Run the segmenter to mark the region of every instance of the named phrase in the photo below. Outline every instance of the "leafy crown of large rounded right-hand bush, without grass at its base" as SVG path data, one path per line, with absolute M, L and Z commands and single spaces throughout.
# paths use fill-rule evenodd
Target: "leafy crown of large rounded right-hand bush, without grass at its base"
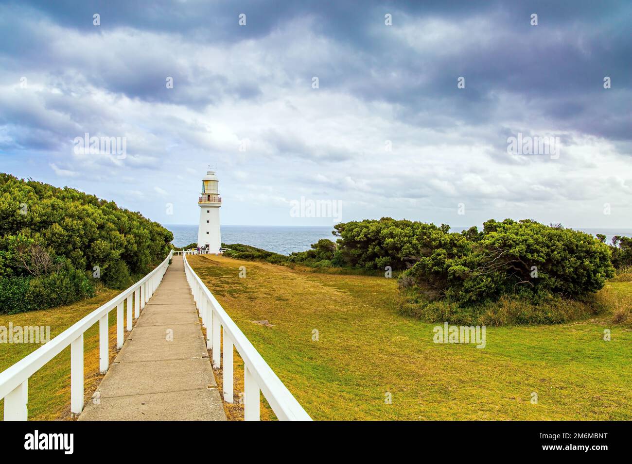
M 567 297 L 597 292 L 614 275 L 611 251 L 591 235 L 531 220 L 489 220 L 477 241 L 446 234 L 406 271 L 433 296 L 461 304 L 506 294 Z

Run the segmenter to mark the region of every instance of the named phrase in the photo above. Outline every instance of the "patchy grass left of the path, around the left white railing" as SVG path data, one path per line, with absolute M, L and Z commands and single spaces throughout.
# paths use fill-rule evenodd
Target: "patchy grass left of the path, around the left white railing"
M 0 326 L 51 326 L 51 338 L 79 319 L 112 299 L 119 290 L 101 290 L 97 296 L 68 306 L 19 314 L 0 314 Z M 109 314 L 110 362 L 116 356 L 116 308 Z M 0 343 L 0 371 L 4 371 L 41 345 Z M 83 334 L 84 398 L 89 401 L 96 390 L 99 375 L 99 324 Z M 28 419 L 70 419 L 70 347 L 49 361 L 28 379 Z M 4 400 L 0 400 L 0 419 L 4 416 Z

